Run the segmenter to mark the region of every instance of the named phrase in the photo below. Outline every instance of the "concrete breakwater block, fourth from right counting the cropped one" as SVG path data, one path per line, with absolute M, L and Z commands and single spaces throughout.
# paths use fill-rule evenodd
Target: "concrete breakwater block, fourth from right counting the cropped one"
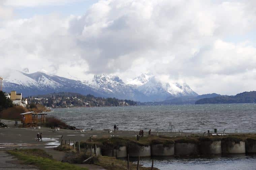
M 198 144 L 175 143 L 174 153 L 175 153 L 175 155 L 181 155 L 181 156 L 198 155 L 199 154 Z

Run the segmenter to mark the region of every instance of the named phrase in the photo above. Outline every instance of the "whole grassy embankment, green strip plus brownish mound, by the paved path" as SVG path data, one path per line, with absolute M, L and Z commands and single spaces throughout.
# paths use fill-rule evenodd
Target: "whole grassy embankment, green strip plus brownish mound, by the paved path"
M 22 164 L 34 165 L 40 170 L 88 170 L 69 163 L 53 160 L 50 155 L 40 149 L 26 149 L 8 151 L 9 154 L 17 157 Z

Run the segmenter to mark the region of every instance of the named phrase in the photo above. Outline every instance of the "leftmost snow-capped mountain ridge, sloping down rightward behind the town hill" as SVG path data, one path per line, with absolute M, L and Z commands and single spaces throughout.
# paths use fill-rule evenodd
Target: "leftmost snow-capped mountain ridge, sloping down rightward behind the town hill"
M 101 96 L 80 81 L 43 72 L 27 74 L 20 71 L 12 71 L 4 77 L 3 86 L 4 91 L 10 92 L 15 90 L 19 93 L 21 92 L 25 97 L 54 92 L 74 92 L 84 95 Z

